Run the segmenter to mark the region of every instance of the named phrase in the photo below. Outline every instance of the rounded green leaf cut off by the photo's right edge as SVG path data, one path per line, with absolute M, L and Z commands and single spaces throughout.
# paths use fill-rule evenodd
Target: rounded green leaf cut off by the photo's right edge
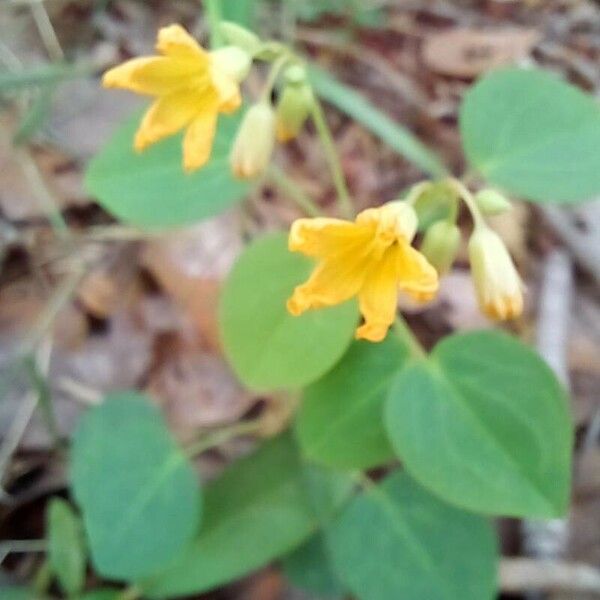
M 539 202 L 600 193 L 600 105 L 539 70 L 491 73 L 465 97 L 460 130 L 490 182 Z

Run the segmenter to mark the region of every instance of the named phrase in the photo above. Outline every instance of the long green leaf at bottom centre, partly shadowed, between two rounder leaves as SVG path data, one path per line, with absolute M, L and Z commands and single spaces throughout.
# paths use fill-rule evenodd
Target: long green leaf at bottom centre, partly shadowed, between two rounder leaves
M 349 489 L 339 474 L 307 471 L 289 435 L 269 441 L 207 487 L 200 537 L 144 590 L 197 594 L 242 577 L 308 538 Z

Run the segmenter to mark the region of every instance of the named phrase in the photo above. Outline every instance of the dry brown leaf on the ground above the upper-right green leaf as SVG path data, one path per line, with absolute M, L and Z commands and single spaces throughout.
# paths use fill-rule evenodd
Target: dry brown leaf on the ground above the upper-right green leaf
M 429 35 L 422 57 L 436 73 L 471 78 L 516 63 L 527 56 L 539 38 L 534 29 L 452 29 Z

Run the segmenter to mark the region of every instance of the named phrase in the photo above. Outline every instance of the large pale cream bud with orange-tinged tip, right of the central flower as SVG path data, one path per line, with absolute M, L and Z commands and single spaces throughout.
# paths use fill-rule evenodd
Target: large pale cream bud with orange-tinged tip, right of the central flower
M 523 312 L 523 283 L 500 236 L 486 226 L 469 240 L 469 259 L 475 292 L 482 312 L 496 320 Z

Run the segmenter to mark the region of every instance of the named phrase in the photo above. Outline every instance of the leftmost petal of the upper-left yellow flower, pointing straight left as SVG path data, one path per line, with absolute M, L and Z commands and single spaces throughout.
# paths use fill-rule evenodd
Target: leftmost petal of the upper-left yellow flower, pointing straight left
M 191 76 L 196 80 L 196 87 L 210 83 L 208 73 L 202 77 L 200 71 L 188 61 L 151 56 L 134 58 L 110 69 L 104 74 L 102 84 L 107 88 L 164 96 L 188 87 Z

